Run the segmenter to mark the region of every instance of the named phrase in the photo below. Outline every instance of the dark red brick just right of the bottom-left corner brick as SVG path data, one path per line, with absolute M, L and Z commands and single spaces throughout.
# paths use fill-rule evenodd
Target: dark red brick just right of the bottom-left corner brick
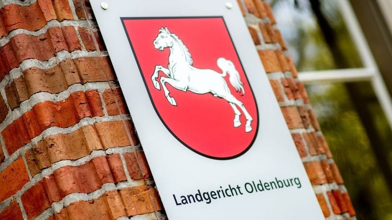
M 21 199 L 29 220 L 50 207 L 49 198 L 42 182 L 38 182 L 28 189 Z

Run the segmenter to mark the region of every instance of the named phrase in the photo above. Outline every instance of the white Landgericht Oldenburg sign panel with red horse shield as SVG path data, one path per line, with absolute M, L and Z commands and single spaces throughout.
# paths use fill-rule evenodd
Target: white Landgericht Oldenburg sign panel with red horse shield
M 324 219 L 235 1 L 91 3 L 169 219 Z

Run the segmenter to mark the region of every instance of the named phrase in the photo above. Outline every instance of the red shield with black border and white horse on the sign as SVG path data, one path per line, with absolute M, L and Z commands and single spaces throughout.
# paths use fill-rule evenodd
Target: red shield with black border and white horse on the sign
M 258 110 L 223 18 L 122 18 L 122 21 L 151 103 L 172 135 L 206 157 L 231 159 L 244 154 L 256 138 Z M 184 56 L 184 48 L 188 57 Z M 228 63 L 221 65 L 217 62 L 220 58 Z M 157 70 L 156 66 L 162 68 Z M 235 69 L 225 71 L 224 66 Z M 154 85 L 154 73 L 159 85 Z M 241 84 L 231 82 L 236 78 L 244 94 Z M 170 92 L 168 96 L 164 87 Z M 236 117 L 239 120 L 235 121 Z

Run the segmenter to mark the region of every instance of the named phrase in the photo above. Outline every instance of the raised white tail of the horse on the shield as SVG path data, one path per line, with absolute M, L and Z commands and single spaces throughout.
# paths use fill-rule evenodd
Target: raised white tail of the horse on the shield
M 237 91 L 241 91 L 242 95 L 245 94 L 243 83 L 240 80 L 240 74 L 238 73 L 237 69 L 235 68 L 233 62 L 226 60 L 224 58 L 219 58 L 217 61 L 219 68 L 221 68 L 222 77 L 225 77 L 226 74 L 229 74 L 229 81 L 231 85 L 236 88 Z

